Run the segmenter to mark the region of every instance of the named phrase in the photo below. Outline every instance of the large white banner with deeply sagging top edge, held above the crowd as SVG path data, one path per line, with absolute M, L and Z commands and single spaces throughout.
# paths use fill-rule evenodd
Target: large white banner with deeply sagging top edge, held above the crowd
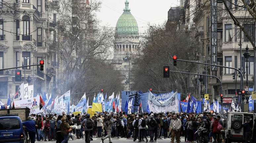
M 165 100 L 164 102 L 160 102 L 150 91 L 149 91 L 149 110 L 151 112 L 179 112 L 179 104 L 178 104 L 178 94 L 177 91 L 172 95 L 169 100 Z

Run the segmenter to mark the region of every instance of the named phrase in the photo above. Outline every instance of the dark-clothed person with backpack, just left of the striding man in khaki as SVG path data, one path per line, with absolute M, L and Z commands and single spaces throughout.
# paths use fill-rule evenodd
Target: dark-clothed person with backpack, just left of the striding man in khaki
M 85 131 L 85 142 L 88 143 L 89 140 L 92 140 L 92 137 L 90 136 L 92 134 L 94 121 L 90 118 L 90 114 L 86 115 L 86 118 L 83 120 L 82 125 L 84 125 L 84 131 Z M 90 136 L 90 138 L 88 138 Z

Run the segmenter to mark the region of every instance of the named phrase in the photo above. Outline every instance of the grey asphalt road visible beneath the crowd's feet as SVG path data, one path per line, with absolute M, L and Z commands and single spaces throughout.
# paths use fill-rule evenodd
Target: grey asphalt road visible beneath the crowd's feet
M 148 139 L 149 139 L 149 137 L 148 137 Z M 157 139 L 156 143 L 168 143 L 170 141 L 171 141 L 170 138 L 166 138 L 166 139 L 162 138 L 162 139 Z M 41 142 L 43 142 L 43 141 L 39 141 L 39 142 L 36 141 L 36 143 L 41 143 Z M 48 141 L 44 141 L 43 143 L 55 143 L 55 142 L 56 141 L 49 141 L 49 142 Z M 85 140 L 84 139 L 76 139 L 76 140 L 69 139 L 68 142 L 69 143 L 85 143 Z M 112 142 L 113 143 L 137 143 L 138 140 L 136 142 L 133 142 L 133 139 L 127 139 L 127 138 L 119 138 L 119 139 L 117 139 L 117 138 L 112 138 Z M 176 142 L 176 140 L 175 140 L 175 142 Z M 184 137 L 181 137 L 181 143 L 183 143 L 183 142 L 185 142 L 185 139 L 184 139 Z M 91 141 L 90 143 L 102 143 L 102 141 L 101 141 L 101 138 L 93 138 L 93 141 Z M 104 143 L 108 143 L 108 139 L 106 139 L 104 141 Z M 146 142 L 142 142 L 142 143 L 146 143 Z

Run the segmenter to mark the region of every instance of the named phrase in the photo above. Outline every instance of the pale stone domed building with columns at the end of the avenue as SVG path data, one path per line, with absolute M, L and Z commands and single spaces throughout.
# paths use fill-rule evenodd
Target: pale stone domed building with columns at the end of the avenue
M 136 52 L 139 48 L 140 36 L 136 19 L 129 8 L 129 1 L 125 0 L 123 14 L 116 23 L 114 57 L 112 63 L 125 76 L 124 84 L 126 90 L 130 90 L 130 69 L 132 60 L 131 53 Z

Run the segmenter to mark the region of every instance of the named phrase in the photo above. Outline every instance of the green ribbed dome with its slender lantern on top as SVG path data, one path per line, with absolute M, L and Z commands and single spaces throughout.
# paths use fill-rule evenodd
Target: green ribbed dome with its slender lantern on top
M 118 35 L 139 35 L 139 29 L 136 19 L 129 9 L 128 0 L 125 1 L 125 9 L 116 23 L 116 34 Z

